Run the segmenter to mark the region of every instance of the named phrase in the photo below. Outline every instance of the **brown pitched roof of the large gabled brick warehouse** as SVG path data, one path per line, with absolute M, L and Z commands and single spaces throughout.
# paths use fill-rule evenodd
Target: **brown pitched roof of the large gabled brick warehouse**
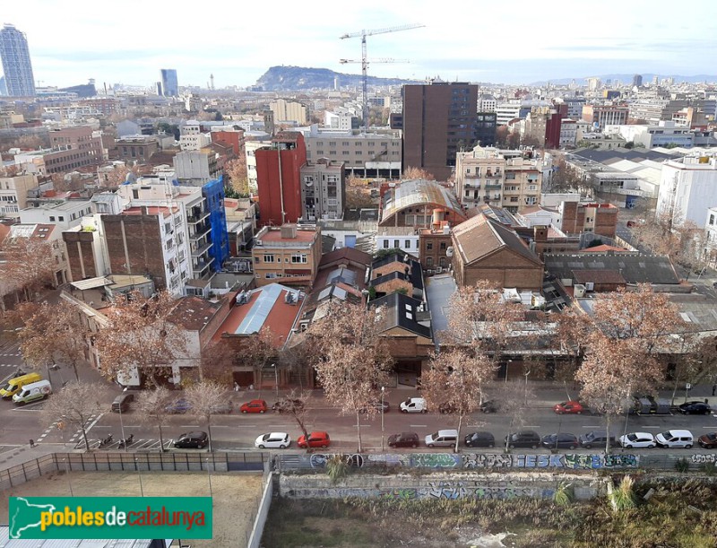
M 454 228 L 453 233 L 458 244 L 457 251 L 466 264 L 488 257 L 500 249 L 510 249 L 536 265 L 541 265 L 540 258 L 523 243 L 515 231 L 485 215 L 477 215 L 462 222 Z

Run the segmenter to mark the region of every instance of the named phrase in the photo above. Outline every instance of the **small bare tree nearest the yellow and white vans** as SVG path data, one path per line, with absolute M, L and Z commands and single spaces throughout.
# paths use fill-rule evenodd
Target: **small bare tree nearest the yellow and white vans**
M 92 415 L 102 411 L 99 403 L 107 387 L 100 383 L 79 383 L 73 381 L 48 397 L 42 408 L 42 416 L 47 424 L 62 422 L 82 431 L 85 450 L 90 450 L 87 428 Z

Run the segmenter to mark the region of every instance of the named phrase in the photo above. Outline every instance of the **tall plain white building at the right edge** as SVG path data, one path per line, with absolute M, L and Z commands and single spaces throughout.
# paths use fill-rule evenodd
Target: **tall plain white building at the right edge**
M 704 226 L 707 210 L 717 204 L 717 156 L 685 156 L 662 165 L 656 214 L 669 214 L 675 226 Z

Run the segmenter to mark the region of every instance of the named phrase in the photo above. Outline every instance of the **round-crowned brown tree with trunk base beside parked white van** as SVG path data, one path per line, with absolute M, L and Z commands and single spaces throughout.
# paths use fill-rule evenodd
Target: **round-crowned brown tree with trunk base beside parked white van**
M 428 408 L 444 406 L 445 411 L 458 415 L 456 453 L 463 419 L 479 409 L 483 388 L 495 372 L 495 362 L 485 354 L 454 349 L 434 354 L 430 369 L 421 376 L 422 394 Z

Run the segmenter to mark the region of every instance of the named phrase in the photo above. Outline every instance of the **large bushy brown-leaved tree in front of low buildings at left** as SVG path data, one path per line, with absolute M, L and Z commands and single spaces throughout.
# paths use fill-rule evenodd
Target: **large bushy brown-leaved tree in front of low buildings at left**
M 177 302 L 168 291 L 149 299 L 139 293 L 108 311 L 109 325 L 99 331 L 99 369 L 108 378 L 128 375 L 134 367 L 158 384 L 162 368 L 167 368 L 186 352 L 186 334 L 172 323 Z

